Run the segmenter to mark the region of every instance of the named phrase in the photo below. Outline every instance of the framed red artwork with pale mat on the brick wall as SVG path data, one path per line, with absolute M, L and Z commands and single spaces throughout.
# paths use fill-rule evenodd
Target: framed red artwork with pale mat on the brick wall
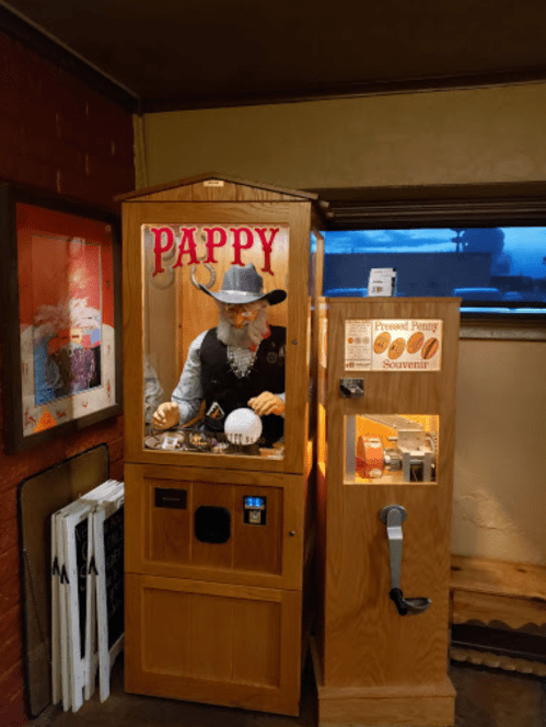
M 0 185 L 5 450 L 121 412 L 119 222 Z

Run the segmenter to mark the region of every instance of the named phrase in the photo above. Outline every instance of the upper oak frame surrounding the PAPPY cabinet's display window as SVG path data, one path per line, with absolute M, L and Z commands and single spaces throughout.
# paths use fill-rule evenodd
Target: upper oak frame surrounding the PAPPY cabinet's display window
M 210 191 L 217 187 L 210 187 Z M 164 194 L 159 192 L 156 194 Z M 208 194 L 208 193 L 207 193 Z M 267 197 L 267 195 L 265 195 Z M 126 411 L 126 461 L 128 462 L 161 462 L 164 464 L 188 464 L 229 468 L 255 469 L 257 471 L 283 471 L 287 473 L 303 474 L 305 472 L 306 432 L 309 420 L 309 380 L 311 345 L 309 316 L 309 267 L 310 267 L 310 231 L 311 231 L 311 201 L 138 201 L 132 200 L 124 205 L 124 356 L 125 356 L 125 411 Z M 235 457 L 229 458 L 214 454 L 194 454 L 183 452 L 163 452 L 146 450 L 143 448 L 143 359 L 151 356 L 146 345 L 161 348 L 161 342 L 169 338 L 164 349 L 171 360 L 158 366 L 165 369 L 166 388 L 170 389 L 176 377 L 179 376 L 182 358 L 189 341 L 201 330 L 216 324 L 217 314 L 212 316 L 206 311 L 201 315 L 200 308 L 207 303 L 207 296 L 185 281 L 189 302 L 184 296 L 176 296 L 171 302 L 178 305 L 178 314 L 173 314 L 173 330 L 165 334 L 165 307 L 158 304 L 154 312 L 147 311 L 143 300 L 143 259 L 141 228 L 142 224 L 286 224 L 289 227 L 288 274 L 283 264 L 279 262 L 279 278 L 275 279 L 275 287 L 286 288 L 288 282 L 288 300 L 279 305 L 279 310 L 271 309 L 271 322 L 275 315 L 280 315 L 278 322 L 287 324 L 287 365 L 286 365 L 286 450 L 282 460 L 266 458 Z M 221 273 L 221 272 L 220 272 Z M 287 281 L 288 275 L 288 281 Z M 220 275 L 221 277 L 221 275 Z M 188 287 L 189 285 L 189 287 Z M 221 280 L 218 281 L 221 285 Z M 266 288 L 269 281 L 266 280 Z M 191 292 L 193 291 L 193 292 Z M 199 298 L 197 298 L 199 296 Z M 195 297 L 195 300 L 194 300 Z M 169 305 L 167 305 L 169 308 Z M 158 309 L 158 310 L 155 310 Z M 150 315 L 153 316 L 150 318 Z M 169 319 L 167 319 L 169 320 Z M 177 323 L 176 323 L 177 321 Z M 144 326 L 146 324 L 146 326 Z M 178 328 L 184 331 L 181 336 Z M 205 326 L 205 328 L 202 327 Z M 187 331 L 186 331 L 187 327 Z M 195 328 L 195 330 L 194 330 Z M 199 331 L 197 331 L 199 328 Z M 174 348 L 178 348 L 173 354 Z M 155 358 L 161 358 L 155 351 Z M 176 370 L 177 369 L 177 370 Z M 163 392 L 169 400 L 171 391 Z

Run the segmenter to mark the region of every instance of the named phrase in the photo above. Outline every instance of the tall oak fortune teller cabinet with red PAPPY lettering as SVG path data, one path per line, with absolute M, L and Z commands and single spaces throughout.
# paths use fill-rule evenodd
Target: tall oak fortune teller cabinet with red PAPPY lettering
M 121 199 L 126 689 L 295 715 L 316 197 L 204 176 Z

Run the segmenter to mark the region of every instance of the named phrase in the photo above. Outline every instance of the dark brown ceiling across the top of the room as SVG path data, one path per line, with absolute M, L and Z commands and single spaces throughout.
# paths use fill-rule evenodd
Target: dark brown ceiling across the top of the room
M 0 0 L 143 111 L 546 79 L 546 0 Z

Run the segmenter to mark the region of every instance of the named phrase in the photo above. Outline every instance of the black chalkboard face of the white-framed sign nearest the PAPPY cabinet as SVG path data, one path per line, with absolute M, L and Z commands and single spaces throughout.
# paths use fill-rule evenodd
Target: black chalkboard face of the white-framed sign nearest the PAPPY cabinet
M 108 649 L 124 634 L 124 508 L 104 521 Z

